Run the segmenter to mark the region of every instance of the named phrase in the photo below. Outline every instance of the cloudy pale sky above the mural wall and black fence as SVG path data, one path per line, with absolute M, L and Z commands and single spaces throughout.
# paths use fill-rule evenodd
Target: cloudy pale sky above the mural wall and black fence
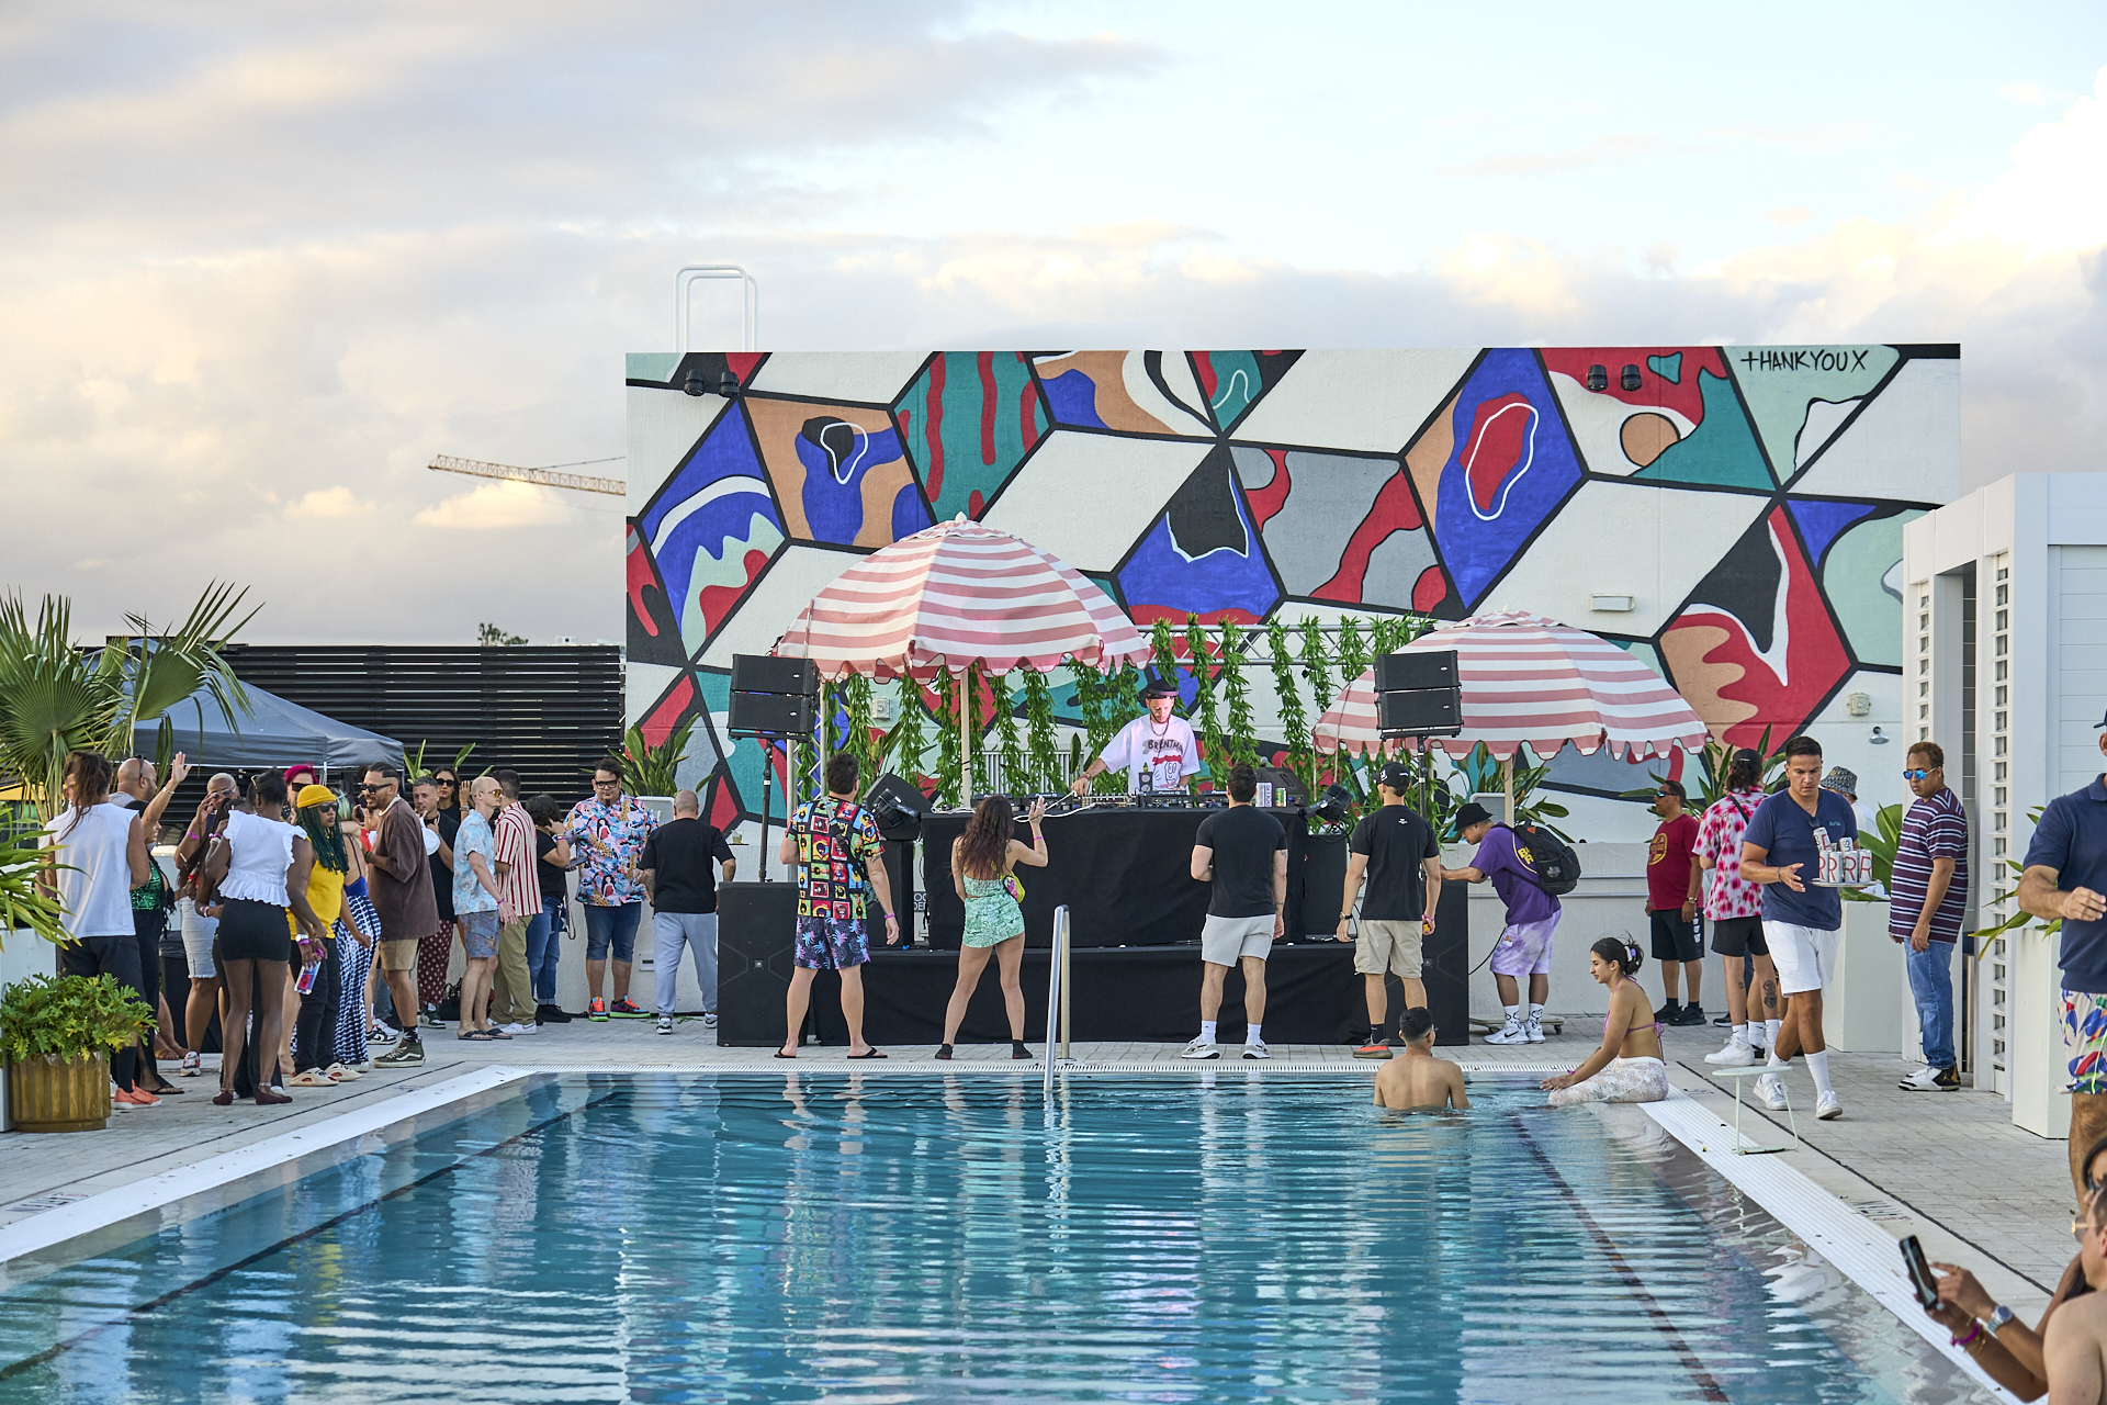
M 792 350 L 1957 339 L 1970 487 L 2107 468 L 2107 6 L 1475 13 L 11 4 L 0 586 L 619 638 L 617 499 L 424 466 L 619 455 L 693 261 Z

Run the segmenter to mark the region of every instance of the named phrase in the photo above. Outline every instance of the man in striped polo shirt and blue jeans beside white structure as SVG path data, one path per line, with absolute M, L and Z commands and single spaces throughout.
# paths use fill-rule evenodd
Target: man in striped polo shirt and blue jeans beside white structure
M 1953 1057 L 1953 944 L 1968 912 L 1968 813 L 1947 788 L 1947 754 L 1936 741 L 1909 748 L 1903 779 L 1917 798 L 1894 845 L 1888 937 L 1909 948 L 1903 963 L 1924 1030 L 1924 1068 L 1901 1087 L 1951 1093 L 1962 1085 Z

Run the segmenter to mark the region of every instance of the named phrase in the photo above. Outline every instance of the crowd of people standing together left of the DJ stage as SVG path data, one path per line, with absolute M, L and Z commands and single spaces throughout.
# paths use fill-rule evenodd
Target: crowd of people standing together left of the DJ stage
M 295 765 L 219 773 L 164 868 L 154 836 L 190 765 L 166 784 L 150 760 L 67 758 L 63 807 L 44 826 L 46 883 L 59 899 L 65 973 L 112 975 L 154 1013 L 150 1036 L 110 1060 L 116 1108 L 152 1108 L 183 1093 L 162 1076 L 206 1072 L 219 1043 L 228 1106 L 272 1106 L 289 1089 L 333 1087 L 373 1068 L 424 1062 L 424 1030 L 453 1024 L 459 1041 L 510 1041 L 573 1017 L 649 1020 L 674 1032 L 683 956 L 716 1024 L 716 883 L 735 859 L 702 819 L 697 796 L 674 796 L 672 819 L 624 792 L 622 760 L 594 771 L 592 796 L 565 807 L 520 796 L 495 769 L 461 781 L 436 769 L 409 781 L 371 763 L 350 794 Z M 556 1003 L 571 889 L 584 910 L 586 1009 Z M 634 939 L 653 904 L 653 1009 L 630 1001 Z M 449 994 L 455 950 L 461 977 Z M 611 961 L 609 961 L 611 958 Z M 188 990 L 162 990 L 181 961 Z M 609 1001 L 609 971 L 611 1001 Z M 447 1009 L 447 1007 L 453 1009 Z

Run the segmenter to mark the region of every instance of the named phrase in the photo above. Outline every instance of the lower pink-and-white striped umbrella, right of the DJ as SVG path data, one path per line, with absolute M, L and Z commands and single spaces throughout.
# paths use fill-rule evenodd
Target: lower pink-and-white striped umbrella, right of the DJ
M 1456 651 L 1462 682 L 1462 735 L 1439 737 L 1452 756 L 1479 741 L 1496 760 L 1528 744 L 1553 756 L 1572 741 L 1589 756 L 1599 746 L 1620 760 L 1696 750 L 1705 723 L 1669 680 L 1610 640 L 1542 615 L 1509 611 L 1435 626 L 1407 651 Z M 1317 720 L 1317 750 L 1376 746 L 1374 670 Z

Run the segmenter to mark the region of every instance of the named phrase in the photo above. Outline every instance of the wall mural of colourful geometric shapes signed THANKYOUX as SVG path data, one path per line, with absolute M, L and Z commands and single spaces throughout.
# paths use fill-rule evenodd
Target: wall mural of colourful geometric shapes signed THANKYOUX
M 1064 556 L 1144 628 L 1540 611 L 1730 741 L 1842 729 L 1871 758 L 1903 522 L 1960 493 L 1957 345 L 632 354 L 628 388 L 628 712 L 697 718 L 725 826 L 763 765 L 723 737 L 731 655 L 940 518 Z M 1555 779 L 1635 784 L 1570 750 Z

